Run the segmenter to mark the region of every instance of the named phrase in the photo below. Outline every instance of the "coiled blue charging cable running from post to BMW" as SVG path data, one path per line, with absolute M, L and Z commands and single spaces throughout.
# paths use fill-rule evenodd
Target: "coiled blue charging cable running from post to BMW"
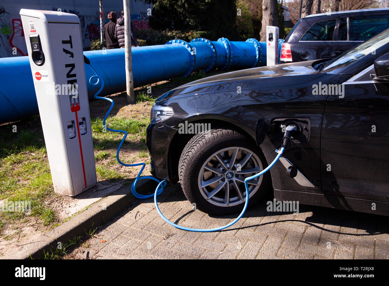
M 92 79 L 97 79 L 96 82 L 93 82 Z M 169 221 L 167 218 L 165 218 L 165 216 L 162 214 L 162 212 L 159 210 L 159 207 L 158 207 L 158 203 L 157 203 L 157 196 L 159 194 L 162 193 L 163 189 L 165 188 L 167 182 L 166 180 L 163 180 L 163 181 L 159 181 L 157 178 L 154 178 L 154 177 L 151 177 L 151 176 L 143 176 L 141 177 L 140 175 L 142 174 L 146 164 L 145 163 L 137 163 L 137 164 L 125 164 L 123 163 L 122 161 L 120 161 L 119 159 L 119 152 L 120 152 L 120 148 L 121 146 L 123 145 L 124 143 L 124 140 L 126 140 L 126 137 L 127 137 L 127 132 L 125 130 L 115 130 L 115 129 L 111 129 L 111 128 L 108 128 L 106 125 L 105 125 L 105 120 L 107 120 L 107 117 L 109 115 L 109 113 L 111 112 L 112 108 L 114 107 L 114 101 L 110 98 L 106 98 L 106 97 L 99 97 L 98 95 L 100 94 L 100 92 L 103 90 L 104 88 L 104 82 L 103 82 L 103 79 L 101 77 L 99 77 L 98 75 L 93 75 L 91 76 L 91 78 L 89 79 L 89 83 L 93 86 L 97 86 L 99 84 L 99 82 L 101 81 L 101 86 L 100 86 L 100 89 L 96 92 L 95 94 L 95 98 L 96 99 L 104 99 L 104 100 L 108 100 L 110 103 L 111 103 L 111 106 L 110 108 L 108 109 L 107 113 L 105 114 L 104 116 L 104 119 L 103 119 L 103 126 L 105 126 L 105 128 L 109 131 L 112 131 L 112 132 L 121 132 L 121 133 L 124 133 L 124 136 L 123 136 L 123 139 L 121 140 L 120 144 L 119 144 L 119 147 L 117 148 L 117 152 L 116 152 L 116 159 L 117 161 L 119 162 L 119 164 L 123 165 L 123 166 L 126 166 L 126 167 L 135 167 L 135 166 L 142 166 L 142 168 L 140 169 L 137 177 L 135 178 L 135 181 L 132 183 L 131 185 L 131 193 L 134 195 L 134 197 L 136 198 L 140 198 L 140 199 L 145 199 L 145 198 L 151 198 L 154 196 L 154 204 L 155 204 L 155 208 L 159 214 L 159 216 L 161 216 L 161 218 L 166 221 L 166 223 L 168 223 L 169 225 L 172 225 L 176 228 L 179 228 L 180 230 L 187 230 L 189 232 L 217 232 L 217 231 L 220 231 L 220 230 L 223 230 L 224 228 L 228 228 L 229 226 L 233 225 L 234 223 L 236 223 L 240 218 L 242 218 L 242 216 L 244 215 L 246 209 L 247 209 L 247 205 L 249 204 L 249 184 L 248 182 L 252 179 L 255 179 L 257 177 L 259 177 L 260 175 L 263 175 L 265 174 L 268 170 L 270 170 L 270 168 L 273 167 L 273 165 L 278 161 L 278 159 L 280 158 L 280 156 L 282 155 L 282 153 L 284 152 L 285 148 L 284 147 L 281 147 L 281 149 L 278 151 L 277 150 L 277 156 L 275 157 L 275 159 L 273 160 L 272 163 L 270 163 L 270 165 L 268 167 L 266 167 L 264 170 L 262 170 L 261 172 L 259 172 L 258 174 L 255 174 L 255 175 L 252 175 L 251 177 L 247 177 L 245 180 L 244 180 L 244 184 L 245 184 L 245 188 L 246 188 L 246 201 L 245 201 L 245 204 L 244 204 L 244 207 L 243 207 L 243 210 L 242 212 L 239 214 L 239 216 L 234 219 L 233 221 L 231 221 L 231 223 L 227 224 L 227 225 L 224 225 L 224 226 L 221 226 L 221 227 L 218 227 L 218 228 L 209 228 L 209 229 L 202 229 L 202 228 L 188 228 L 188 227 L 185 227 L 185 226 L 180 226 L 180 225 L 177 225 L 175 223 L 172 223 L 171 221 Z M 151 180 L 154 180 L 156 182 L 158 182 L 158 186 L 157 188 L 155 189 L 155 192 L 154 194 L 152 195 L 142 195 L 142 194 L 139 194 L 137 193 L 136 191 L 136 185 L 137 185 L 137 182 L 139 180 L 142 180 L 142 179 L 151 179 Z

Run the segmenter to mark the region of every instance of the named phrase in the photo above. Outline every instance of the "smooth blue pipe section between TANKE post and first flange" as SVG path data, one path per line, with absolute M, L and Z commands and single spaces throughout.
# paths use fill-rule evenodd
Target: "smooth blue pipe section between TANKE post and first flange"
M 86 51 L 84 56 L 90 61 L 89 65 L 85 64 L 86 78 L 97 74 L 105 83 L 102 95 L 126 90 L 124 49 Z M 186 74 L 191 67 L 191 58 L 188 50 L 179 44 L 133 48 L 134 87 Z M 89 98 L 93 98 L 95 88 L 87 81 Z

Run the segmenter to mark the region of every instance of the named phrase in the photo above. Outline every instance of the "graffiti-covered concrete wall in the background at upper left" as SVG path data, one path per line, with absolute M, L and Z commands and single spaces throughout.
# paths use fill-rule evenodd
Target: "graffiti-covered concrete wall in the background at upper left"
M 100 38 L 99 0 L 1 0 L 0 2 L 0 58 L 26 56 L 27 48 L 20 21 L 20 9 L 39 9 L 76 14 L 81 22 L 82 45 L 90 46 L 90 41 Z M 150 5 L 143 1 L 130 0 L 131 20 L 134 30 L 148 28 L 147 9 Z M 105 22 L 107 14 L 115 11 L 120 15 L 123 1 L 103 0 Z

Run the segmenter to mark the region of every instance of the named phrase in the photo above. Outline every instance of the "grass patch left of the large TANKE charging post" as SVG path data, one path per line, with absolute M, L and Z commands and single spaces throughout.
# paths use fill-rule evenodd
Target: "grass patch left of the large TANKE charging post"
M 53 182 L 39 116 L 28 121 L 0 126 L 0 199 L 28 201 L 31 216 L 50 225 L 54 211 L 44 207 L 47 196 L 54 196 Z M 16 126 L 17 132 L 12 132 Z M 33 126 L 37 129 L 30 129 Z M 24 211 L 0 212 L 0 230 L 16 221 L 27 222 Z M 10 235 L 9 237 L 12 237 Z

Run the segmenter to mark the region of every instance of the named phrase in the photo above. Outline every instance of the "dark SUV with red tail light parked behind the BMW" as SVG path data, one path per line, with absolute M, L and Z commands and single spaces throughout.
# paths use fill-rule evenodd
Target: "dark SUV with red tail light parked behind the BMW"
M 387 28 L 389 8 L 309 15 L 287 36 L 280 63 L 335 58 Z

